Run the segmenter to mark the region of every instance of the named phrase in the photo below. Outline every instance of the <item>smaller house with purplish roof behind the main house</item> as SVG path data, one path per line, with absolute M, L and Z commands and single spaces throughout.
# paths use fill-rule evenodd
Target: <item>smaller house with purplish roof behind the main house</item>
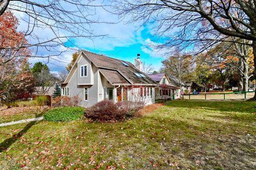
M 158 83 L 155 95 L 156 99 L 179 99 L 180 87 L 173 85 L 169 77 L 165 73 L 148 74 L 152 80 Z

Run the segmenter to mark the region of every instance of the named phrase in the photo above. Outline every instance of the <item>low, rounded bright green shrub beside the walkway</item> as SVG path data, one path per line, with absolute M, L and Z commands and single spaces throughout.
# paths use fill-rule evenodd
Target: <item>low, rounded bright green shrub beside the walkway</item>
M 44 120 L 50 122 L 70 122 L 83 117 L 83 107 L 57 107 L 44 114 Z

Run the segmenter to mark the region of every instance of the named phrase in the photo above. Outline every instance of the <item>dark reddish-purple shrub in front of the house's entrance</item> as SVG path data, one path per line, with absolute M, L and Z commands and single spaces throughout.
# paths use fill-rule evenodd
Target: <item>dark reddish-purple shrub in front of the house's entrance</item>
M 142 102 L 123 101 L 114 104 L 113 101 L 103 100 L 85 109 L 84 115 L 100 122 L 123 121 L 125 117 L 133 117 L 143 106 Z

